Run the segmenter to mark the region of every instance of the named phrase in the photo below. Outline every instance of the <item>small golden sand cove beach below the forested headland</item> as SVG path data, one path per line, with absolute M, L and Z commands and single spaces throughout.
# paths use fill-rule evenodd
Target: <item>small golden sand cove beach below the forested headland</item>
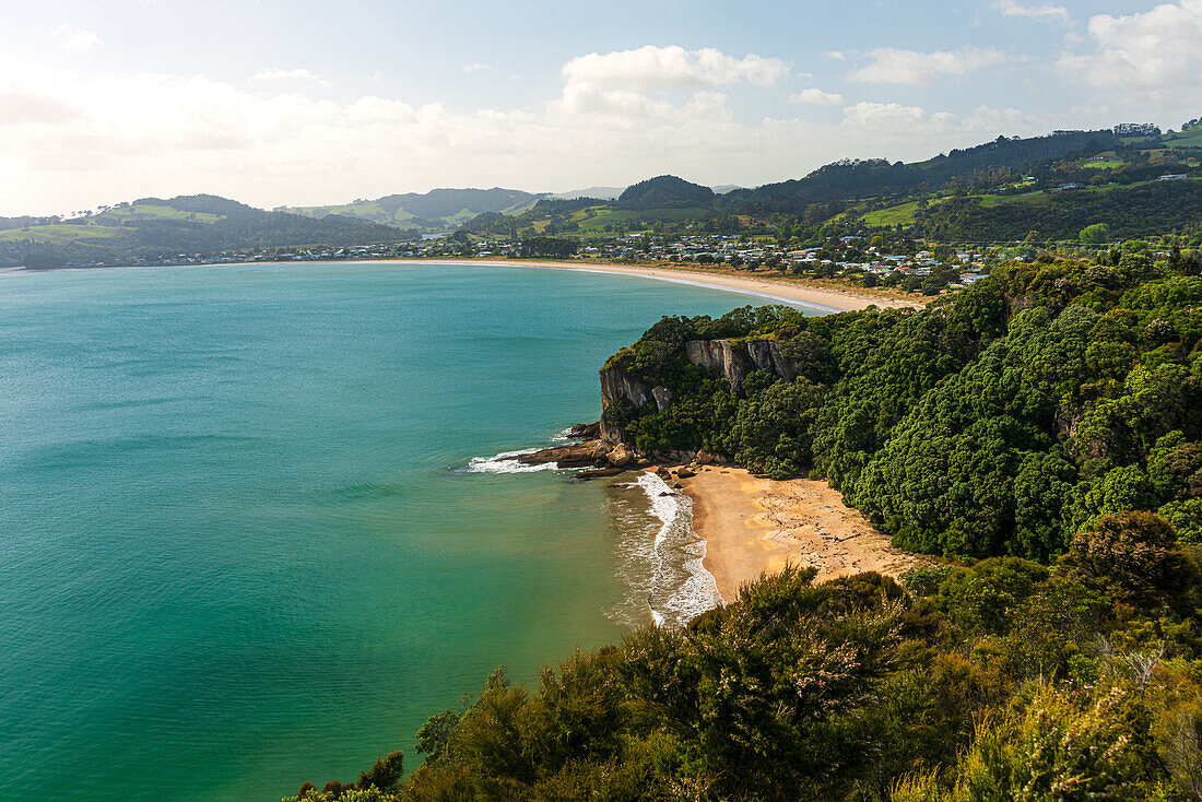
M 893 548 L 826 482 L 778 482 L 718 465 L 679 481 L 694 500 L 694 530 L 706 539 L 704 565 L 728 602 L 745 582 L 789 563 L 819 569 L 816 582 L 863 571 L 898 576 L 923 563 Z

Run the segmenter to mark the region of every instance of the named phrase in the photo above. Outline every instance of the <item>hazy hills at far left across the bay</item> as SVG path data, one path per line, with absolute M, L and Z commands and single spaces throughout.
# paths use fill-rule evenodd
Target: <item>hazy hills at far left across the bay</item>
M 10 219 L 13 220 L 13 219 Z M 131 263 L 177 254 L 404 239 L 389 226 L 340 215 L 264 212 L 215 195 L 144 197 L 97 214 L 0 230 L 0 265 Z

